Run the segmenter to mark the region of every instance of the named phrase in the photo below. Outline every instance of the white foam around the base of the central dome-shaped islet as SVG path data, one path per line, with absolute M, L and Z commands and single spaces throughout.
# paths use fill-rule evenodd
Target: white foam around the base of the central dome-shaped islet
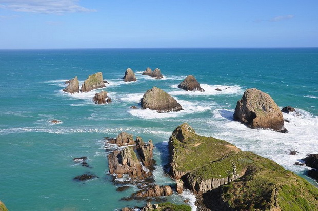
M 161 119 L 161 118 L 173 118 L 173 117 L 183 117 L 186 114 L 204 112 L 212 109 L 213 103 L 200 103 L 195 101 L 185 101 L 185 100 L 177 100 L 178 103 L 182 106 L 184 110 L 181 111 L 172 111 L 168 113 L 158 113 L 155 110 L 147 109 L 130 109 L 128 112 L 142 119 Z

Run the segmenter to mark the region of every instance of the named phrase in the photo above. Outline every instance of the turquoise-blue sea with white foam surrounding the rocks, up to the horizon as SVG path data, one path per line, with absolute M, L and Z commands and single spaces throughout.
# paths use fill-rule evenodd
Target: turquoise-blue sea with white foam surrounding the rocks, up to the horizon
M 160 68 L 163 80 L 141 73 Z M 136 82 L 123 82 L 131 68 Z M 103 89 L 68 94 L 65 81 L 102 72 Z M 192 74 L 206 90 L 184 91 L 177 85 Z M 168 140 L 174 128 L 188 122 L 198 134 L 213 136 L 270 158 L 304 175 L 293 163 L 318 152 L 318 48 L 225 49 L 68 49 L 0 50 L 0 200 L 9 210 L 115 210 L 145 205 L 122 201 L 135 186 L 117 192 L 108 174 L 103 137 L 126 131 L 155 144 L 154 171 L 158 184 L 172 184 L 162 166 L 168 162 Z M 157 113 L 131 109 L 143 94 L 157 86 L 184 108 Z M 232 119 L 237 100 L 247 88 L 271 95 L 284 113 L 287 134 L 249 129 Z M 215 91 L 216 88 L 222 91 Z M 96 105 L 92 97 L 106 90 L 112 103 Z M 50 120 L 60 120 L 52 124 Z M 286 151 L 299 151 L 288 155 Z M 92 168 L 73 162 L 88 157 Z M 90 172 L 87 182 L 73 181 Z M 168 201 L 183 203 L 194 196 L 174 194 Z

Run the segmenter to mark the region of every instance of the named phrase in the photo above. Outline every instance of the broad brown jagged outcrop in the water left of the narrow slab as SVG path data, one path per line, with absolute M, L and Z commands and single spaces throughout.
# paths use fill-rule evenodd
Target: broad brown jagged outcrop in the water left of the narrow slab
M 110 174 L 129 174 L 132 179 L 145 179 L 148 174 L 143 170 L 133 147 L 129 146 L 122 151 L 113 151 L 108 155 Z

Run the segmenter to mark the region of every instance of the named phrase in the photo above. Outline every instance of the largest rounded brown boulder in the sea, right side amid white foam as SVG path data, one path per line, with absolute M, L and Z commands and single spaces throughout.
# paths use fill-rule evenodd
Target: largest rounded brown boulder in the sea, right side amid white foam
M 270 95 L 255 88 L 247 89 L 237 101 L 234 120 L 250 128 L 269 128 L 287 132 L 283 114 Z

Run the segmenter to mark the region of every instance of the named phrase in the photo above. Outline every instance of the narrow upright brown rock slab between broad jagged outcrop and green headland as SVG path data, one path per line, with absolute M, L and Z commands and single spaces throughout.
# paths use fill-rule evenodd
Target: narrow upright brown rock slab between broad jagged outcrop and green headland
M 136 150 L 143 165 L 146 167 L 152 166 L 152 140 L 149 140 L 148 144 L 145 144 L 141 137 L 136 137 Z

